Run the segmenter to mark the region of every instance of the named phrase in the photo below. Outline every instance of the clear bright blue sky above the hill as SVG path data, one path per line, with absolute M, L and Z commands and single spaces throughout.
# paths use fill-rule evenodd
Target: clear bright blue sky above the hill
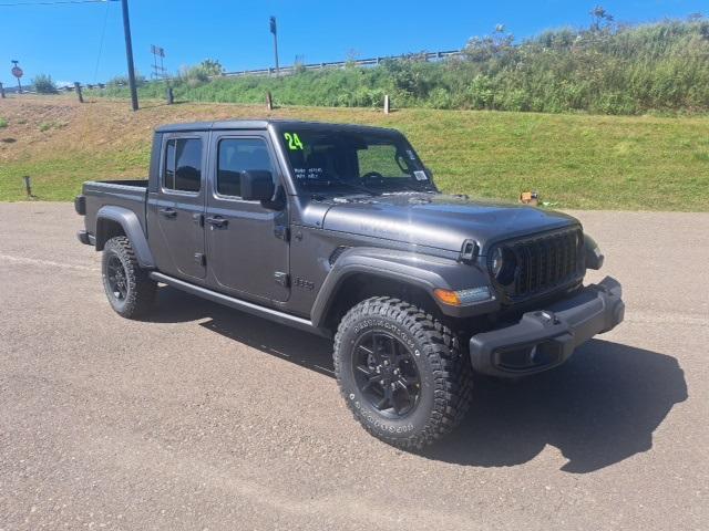
M 0 0 L 0 82 L 14 84 L 11 60 L 27 82 L 40 73 L 82 83 L 124 74 L 121 2 L 37 4 L 56 1 L 66 0 Z M 587 25 L 597 3 L 619 22 L 709 17 L 709 0 L 129 0 L 135 66 L 148 77 L 151 44 L 165 49 L 171 72 L 207 58 L 227 71 L 273 66 L 270 15 L 288 65 L 297 56 L 319 63 L 458 50 L 496 24 L 524 39 Z

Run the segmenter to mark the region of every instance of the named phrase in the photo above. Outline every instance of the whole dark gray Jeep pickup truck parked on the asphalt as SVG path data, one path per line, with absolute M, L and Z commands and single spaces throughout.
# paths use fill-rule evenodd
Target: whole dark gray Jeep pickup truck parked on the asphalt
M 75 208 L 119 314 L 164 283 L 333 336 L 349 408 L 402 448 L 461 420 L 474 372 L 555 367 L 623 321 L 618 282 L 583 284 L 604 257 L 576 219 L 443 195 L 392 129 L 167 125 L 147 180 L 85 183 Z

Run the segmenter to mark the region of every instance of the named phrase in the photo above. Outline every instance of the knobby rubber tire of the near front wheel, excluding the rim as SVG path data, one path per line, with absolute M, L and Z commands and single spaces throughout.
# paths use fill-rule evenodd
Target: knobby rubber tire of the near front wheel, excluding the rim
M 388 331 L 410 345 L 420 375 L 419 400 L 402 418 L 382 415 L 360 392 L 352 358 L 360 334 Z M 421 449 L 450 433 L 470 407 L 472 367 L 440 321 L 399 299 L 374 296 L 353 306 L 335 336 L 335 373 L 354 418 L 370 434 L 403 449 Z

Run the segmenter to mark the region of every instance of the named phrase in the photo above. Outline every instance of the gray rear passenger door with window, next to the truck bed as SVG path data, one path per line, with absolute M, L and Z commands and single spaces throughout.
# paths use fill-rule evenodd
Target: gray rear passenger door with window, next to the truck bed
M 207 133 L 163 136 L 160 184 L 148 195 L 148 235 L 157 269 L 174 277 L 206 277 L 204 209 Z

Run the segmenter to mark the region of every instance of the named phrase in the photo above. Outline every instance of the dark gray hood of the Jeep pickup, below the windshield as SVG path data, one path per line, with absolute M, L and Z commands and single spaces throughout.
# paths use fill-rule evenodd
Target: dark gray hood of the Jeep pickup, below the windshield
M 322 228 L 460 251 L 467 239 L 490 244 L 578 225 L 571 216 L 524 205 L 472 201 L 463 196 L 395 194 L 332 201 Z

